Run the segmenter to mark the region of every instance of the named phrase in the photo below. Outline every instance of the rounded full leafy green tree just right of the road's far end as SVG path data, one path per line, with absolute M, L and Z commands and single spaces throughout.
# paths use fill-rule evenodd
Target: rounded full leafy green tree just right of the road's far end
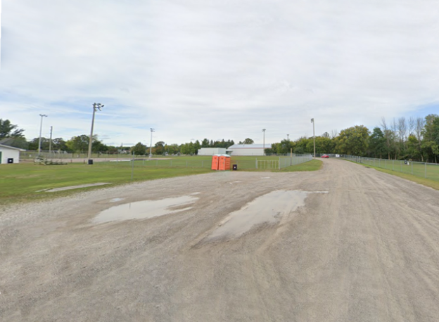
M 355 125 L 343 129 L 336 139 L 336 150 L 341 154 L 364 155 L 369 146 L 369 129 Z

